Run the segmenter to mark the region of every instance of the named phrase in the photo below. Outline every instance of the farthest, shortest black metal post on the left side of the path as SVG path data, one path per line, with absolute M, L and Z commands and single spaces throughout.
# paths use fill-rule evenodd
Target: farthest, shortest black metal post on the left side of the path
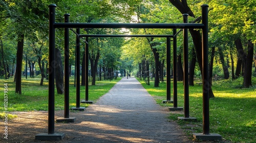
M 86 37 L 86 101 L 89 100 L 89 38 Z

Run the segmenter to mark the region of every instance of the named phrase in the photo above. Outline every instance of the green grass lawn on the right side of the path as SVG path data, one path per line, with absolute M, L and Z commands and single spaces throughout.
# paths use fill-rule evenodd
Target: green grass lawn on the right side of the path
M 253 78 L 252 82 L 254 86 L 251 88 L 238 88 L 242 87 L 242 79 L 212 83 L 215 98 L 209 100 L 210 133 L 218 133 L 232 142 L 256 142 L 256 78 Z M 155 97 L 158 104 L 173 107 L 173 104 L 161 103 L 166 100 L 165 82 L 161 82 L 157 88 L 154 87 L 153 81 L 150 85 L 146 85 L 143 81 L 141 84 Z M 183 83 L 178 82 L 178 106 L 180 107 L 184 107 L 183 92 Z M 184 116 L 177 113 L 170 113 L 169 118 L 177 121 L 188 134 L 202 133 L 202 104 L 202 85 L 189 86 L 189 115 L 196 117 L 198 121 L 177 121 L 178 116 Z

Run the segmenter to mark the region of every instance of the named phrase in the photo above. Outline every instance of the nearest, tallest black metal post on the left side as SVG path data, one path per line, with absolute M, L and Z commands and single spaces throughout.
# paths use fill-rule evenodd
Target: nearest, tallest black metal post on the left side
M 56 5 L 49 5 L 48 134 L 54 134 L 55 8 Z

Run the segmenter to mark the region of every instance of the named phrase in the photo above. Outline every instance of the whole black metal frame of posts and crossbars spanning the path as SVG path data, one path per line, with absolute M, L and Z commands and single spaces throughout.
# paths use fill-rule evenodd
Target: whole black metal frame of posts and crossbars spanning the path
M 202 29 L 202 87 L 203 87 L 203 134 L 209 135 L 209 75 L 208 75 L 208 5 L 202 5 L 202 23 L 187 23 L 187 14 L 183 14 L 184 23 L 69 23 L 69 22 L 63 22 L 58 23 L 55 21 L 55 8 L 56 5 L 51 4 L 49 5 L 49 109 L 48 109 L 48 134 L 52 135 L 55 133 L 54 131 L 54 88 L 55 88 L 55 82 L 54 82 L 54 74 L 55 74 L 55 29 L 57 28 L 65 28 L 65 31 L 67 32 L 70 28 L 127 28 L 127 29 L 174 29 L 174 35 L 177 35 L 176 29 L 183 29 L 183 39 L 184 39 L 184 67 L 185 67 L 185 73 L 184 73 L 184 112 L 185 117 L 189 117 L 189 111 L 188 111 L 188 70 L 186 70 L 186 65 L 188 67 L 188 29 Z M 69 15 L 67 15 L 68 17 Z M 68 37 L 65 32 L 65 56 L 69 56 L 68 53 Z M 105 35 L 105 37 L 136 37 L 135 35 Z M 161 35 L 137 35 L 137 37 L 161 37 Z M 166 37 L 167 39 L 167 46 L 170 46 L 170 38 L 174 38 L 174 46 L 177 46 L 177 39 L 176 36 L 173 35 L 162 35 L 163 37 Z M 104 35 L 80 35 L 79 37 L 104 37 Z M 67 46 L 67 47 L 66 47 Z M 87 45 L 88 46 L 88 45 Z M 78 50 L 77 50 L 78 52 Z M 87 51 L 88 52 L 88 51 Z M 176 58 L 176 48 L 174 48 L 174 66 L 177 66 L 177 58 Z M 78 53 L 77 53 L 78 54 Z M 167 54 L 170 55 L 170 49 L 167 48 Z M 170 57 L 167 56 L 167 60 L 170 61 Z M 68 58 L 67 58 L 68 59 Z M 67 60 L 66 59 L 66 60 Z M 65 60 L 65 62 L 66 62 Z M 67 60 L 68 61 L 68 60 Z M 167 62 L 167 68 L 170 67 L 170 62 Z M 66 66 L 65 66 L 66 70 Z M 87 70 L 88 71 L 88 70 Z M 67 73 L 67 72 L 66 72 Z M 79 75 L 77 73 L 77 75 Z M 174 75 L 177 75 L 177 71 L 174 71 Z M 65 74 L 65 79 L 68 74 Z M 170 76 L 170 70 L 169 73 L 167 73 L 167 76 Z M 87 77 L 88 78 L 88 77 Z M 79 78 L 78 78 L 79 79 Z M 167 79 L 170 79 L 170 77 Z M 174 76 L 174 81 L 177 81 L 176 76 Z M 187 81 L 187 83 L 186 83 Z M 167 83 L 169 83 L 167 86 L 170 87 L 170 81 L 168 80 Z M 78 80 L 77 80 L 77 84 Z M 88 84 L 88 83 L 87 83 Z M 185 85 L 186 84 L 186 85 Z M 69 85 L 68 81 L 65 80 L 65 88 L 67 88 Z M 78 89 L 77 89 L 78 90 Z M 167 89 L 170 93 L 170 90 Z M 66 89 L 65 89 L 66 91 Z M 88 90 L 86 90 L 88 92 Z M 68 93 L 67 93 L 68 94 Z M 88 93 L 87 93 L 88 94 Z M 177 83 L 174 82 L 174 95 L 177 95 Z M 68 101 L 68 96 L 65 98 L 65 100 Z M 168 99 L 167 99 L 168 100 Z M 175 102 L 176 101 L 176 102 Z M 65 105 L 66 107 L 67 105 Z M 177 97 L 174 97 L 174 107 L 177 107 Z M 68 110 L 68 109 L 66 109 Z M 65 115 L 65 117 L 68 117 L 68 114 Z

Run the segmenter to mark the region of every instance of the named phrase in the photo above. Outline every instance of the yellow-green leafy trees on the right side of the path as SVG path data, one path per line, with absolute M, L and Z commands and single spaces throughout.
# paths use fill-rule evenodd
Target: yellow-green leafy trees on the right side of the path
M 189 14 L 189 22 L 200 22 L 201 5 L 209 5 L 209 69 L 210 78 L 212 75 L 222 76 L 228 79 L 239 77 L 244 78 L 244 87 L 251 86 L 252 67 L 255 67 L 256 43 L 255 34 L 255 5 L 252 1 L 156 1 L 152 3 L 142 2 L 137 9 L 136 22 L 164 23 L 183 21 L 182 15 Z M 201 33 L 199 30 L 189 29 L 190 51 L 189 51 L 189 84 L 194 85 L 194 72 L 201 69 Z M 172 34 L 168 30 L 134 30 L 134 34 Z M 180 36 L 182 37 L 182 36 Z M 179 37 L 178 37 L 179 38 Z M 139 63 L 139 67 L 146 67 L 145 61 L 153 62 L 157 69 L 161 71 L 165 61 L 165 38 L 147 38 L 131 40 L 133 49 L 126 53 L 138 51 L 138 54 L 128 54 L 134 59 L 134 64 Z M 137 44 L 136 44 L 137 43 Z M 143 43 L 143 44 L 142 44 Z M 178 80 L 183 80 L 182 68 L 182 40 L 178 42 Z M 143 53 L 143 55 L 141 54 Z M 254 55 L 254 56 L 253 56 Z M 154 57 L 154 59 L 152 59 Z M 231 61 L 231 63 L 229 62 Z M 254 62 L 254 63 L 253 63 Z M 141 64 L 143 64 L 141 66 Z M 215 68 L 221 66 L 222 72 L 216 72 Z M 236 71 L 234 70 L 236 68 Z M 146 70 L 146 69 L 141 69 Z M 230 71 L 231 70 L 231 71 Z M 212 73 L 212 71 L 215 71 Z M 162 72 L 162 71 L 161 71 Z M 143 72 L 140 72 L 143 73 Z M 231 73 L 231 74 L 229 74 Z M 221 74 L 221 75 L 220 75 Z M 160 74 L 163 75 L 163 74 Z M 159 81 L 155 81 L 158 86 Z M 211 93 L 211 97 L 214 97 Z

